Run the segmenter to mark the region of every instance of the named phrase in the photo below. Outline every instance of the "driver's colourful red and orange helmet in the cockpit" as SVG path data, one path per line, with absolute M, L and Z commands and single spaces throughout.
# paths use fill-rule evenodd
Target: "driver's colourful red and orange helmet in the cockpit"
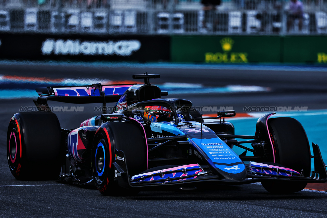
M 163 106 L 146 106 L 144 107 L 144 119 L 151 122 L 170 121 L 172 112 L 167 107 Z

